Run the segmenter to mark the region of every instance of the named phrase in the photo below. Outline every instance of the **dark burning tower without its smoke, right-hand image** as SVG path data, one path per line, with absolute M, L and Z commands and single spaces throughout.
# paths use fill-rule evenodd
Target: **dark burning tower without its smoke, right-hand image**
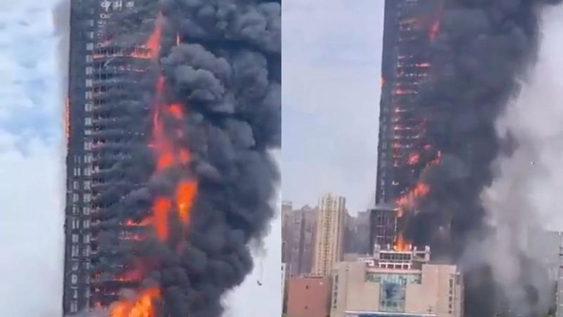
M 429 77 L 429 48 L 440 27 L 440 12 L 440 0 L 387 0 L 385 4 L 377 205 L 398 208 L 400 200 L 417 186 L 422 169 L 439 155 L 425 138 L 431 110 L 420 108 L 417 100 L 420 84 Z M 394 235 L 396 228 L 386 227 L 400 226 L 400 221 L 377 216 L 381 210 L 372 210 L 371 235 L 396 240 L 382 237 Z M 377 219 L 385 219 L 386 223 L 378 224 Z

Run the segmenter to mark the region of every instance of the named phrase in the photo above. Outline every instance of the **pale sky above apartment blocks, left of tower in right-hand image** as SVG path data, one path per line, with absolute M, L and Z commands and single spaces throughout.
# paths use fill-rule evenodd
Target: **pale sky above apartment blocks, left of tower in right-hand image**
M 373 200 L 384 1 L 286 0 L 283 11 L 282 196 Z

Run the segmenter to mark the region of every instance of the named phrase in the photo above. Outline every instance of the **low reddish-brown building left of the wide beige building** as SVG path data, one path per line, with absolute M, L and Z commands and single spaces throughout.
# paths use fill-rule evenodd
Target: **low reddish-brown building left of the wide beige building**
M 289 279 L 287 317 L 330 315 L 331 278 L 301 276 Z

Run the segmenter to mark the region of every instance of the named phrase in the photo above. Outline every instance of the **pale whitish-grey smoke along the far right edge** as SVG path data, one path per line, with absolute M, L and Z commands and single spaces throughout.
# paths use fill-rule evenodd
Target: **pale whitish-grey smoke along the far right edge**
M 498 122 L 499 134 L 510 131 L 518 147 L 512 156 L 498 159 L 498 177 L 483 192 L 488 221 L 501 228 L 485 242 L 487 260 L 495 280 L 509 292 L 513 302 L 522 301 L 524 285 L 519 276 L 526 274 L 517 254 L 535 257 L 540 252 L 529 249 L 529 235 L 535 235 L 537 228 L 563 228 L 557 207 L 563 189 L 563 108 L 559 102 L 563 88 L 559 80 L 563 70 L 559 57 L 563 52 L 559 34 L 562 17 L 563 8 L 559 7 L 543 15 L 538 64 L 517 101 Z M 557 252 L 551 250 L 553 254 Z M 545 311 L 552 304 L 552 285 L 542 278 L 531 280 L 540 290 Z

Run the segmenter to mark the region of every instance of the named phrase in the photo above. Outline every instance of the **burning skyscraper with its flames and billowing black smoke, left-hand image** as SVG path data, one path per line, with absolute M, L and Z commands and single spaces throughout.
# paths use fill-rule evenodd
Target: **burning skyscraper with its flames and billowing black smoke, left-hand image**
M 216 317 L 251 271 L 279 179 L 280 4 L 71 1 L 66 315 Z

